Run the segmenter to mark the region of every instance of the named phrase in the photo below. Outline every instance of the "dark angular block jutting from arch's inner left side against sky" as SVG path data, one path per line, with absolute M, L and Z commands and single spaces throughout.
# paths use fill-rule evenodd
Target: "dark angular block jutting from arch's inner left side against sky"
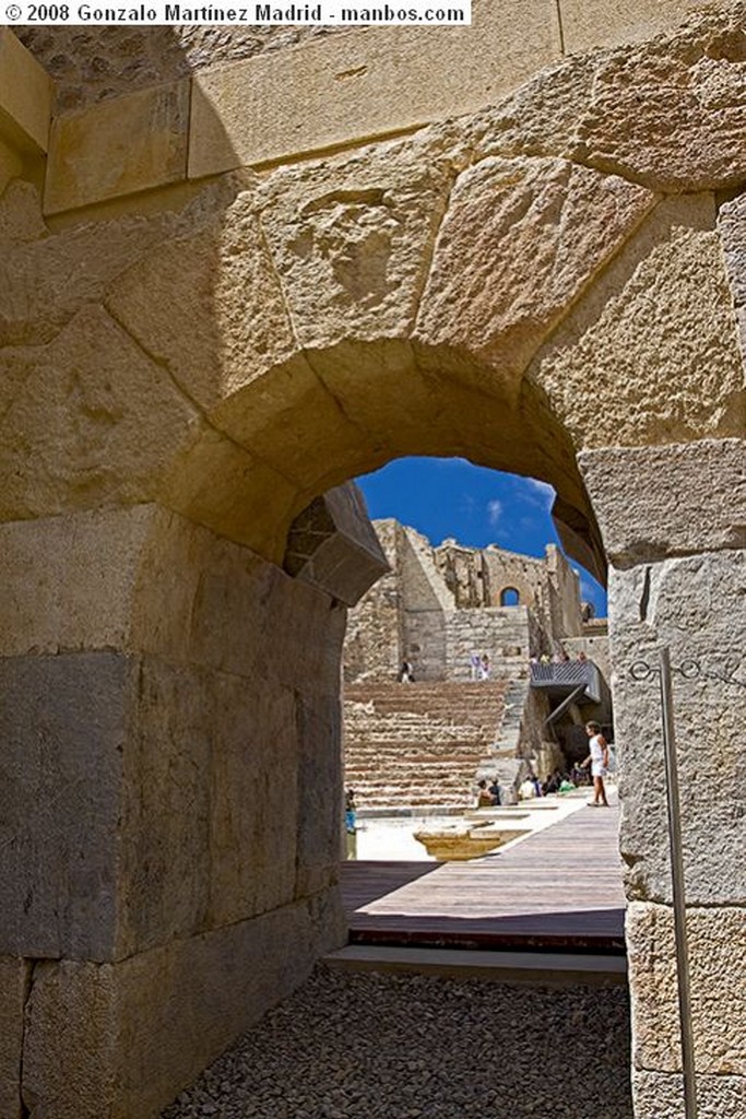
M 284 566 L 348 606 L 386 574 L 386 556 L 353 482 L 328 490 L 295 518 Z

